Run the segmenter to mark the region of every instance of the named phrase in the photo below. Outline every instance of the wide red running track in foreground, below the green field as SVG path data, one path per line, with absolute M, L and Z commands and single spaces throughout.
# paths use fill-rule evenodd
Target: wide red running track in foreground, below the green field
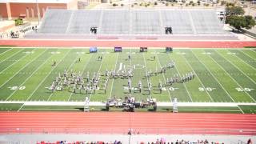
M 256 135 L 256 114 L 0 113 L 0 134 Z

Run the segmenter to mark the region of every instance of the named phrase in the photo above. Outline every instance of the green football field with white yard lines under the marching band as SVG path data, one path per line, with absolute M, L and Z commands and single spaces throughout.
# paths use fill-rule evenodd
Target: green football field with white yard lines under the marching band
M 56 64 L 52 66 L 54 62 Z M 174 67 L 166 69 L 165 73 L 154 74 L 162 67 L 168 67 L 170 62 L 174 62 Z M 81 74 L 85 85 L 87 74 L 90 79 L 94 75 L 100 76 L 98 88 L 87 93 L 79 90 L 79 86 L 74 90 L 73 85 L 70 88 L 63 86 L 63 90 L 49 90 L 56 77 L 63 75 L 65 70 L 69 74 L 70 71 Z M 105 93 L 106 70 L 133 70 L 131 93 L 127 78 L 111 77 Z M 153 74 L 146 77 L 148 72 Z M 166 85 L 167 79 L 191 73 L 194 74 L 191 80 Z M 139 81 L 142 82 L 141 93 L 138 91 Z M 64 82 L 63 77 L 61 82 Z M 152 83 L 150 91 L 149 82 Z M 159 83 L 162 83 L 162 93 Z M 174 48 L 173 52 L 166 53 L 164 48 L 139 52 L 138 48 L 126 47 L 119 53 L 114 53 L 113 48 L 99 48 L 98 53 L 93 54 L 88 48 L 0 49 L 0 107 L 8 107 L 10 102 L 10 107 L 17 105 L 14 110 L 25 108 L 22 102 L 84 102 L 86 97 L 90 102 L 132 96 L 136 101 L 156 98 L 157 102 L 171 102 L 178 98 L 178 102 L 256 103 L 255 89 L 256 51 L 253 49 Z M 256 112 L 255 106 L 250 112 Z

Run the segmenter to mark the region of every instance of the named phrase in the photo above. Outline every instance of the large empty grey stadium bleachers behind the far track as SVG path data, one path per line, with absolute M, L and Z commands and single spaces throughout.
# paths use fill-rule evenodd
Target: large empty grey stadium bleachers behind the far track
M 63 35 L 88 38 L 91 36 L 92 26 L 97 27 L 97 35 L 103 36 L 235 38 L 233 34 L 222 29 L 223 24 L 214 10 L 60 9 L 47 9 L 38 32 L 28 34 L 26 38 L 42 38 L 47 34 L 48 38 L 49 35 L 58 35 L 60 38 Z M 172 27 L 172 34 L 166 35 L 166 27 Z

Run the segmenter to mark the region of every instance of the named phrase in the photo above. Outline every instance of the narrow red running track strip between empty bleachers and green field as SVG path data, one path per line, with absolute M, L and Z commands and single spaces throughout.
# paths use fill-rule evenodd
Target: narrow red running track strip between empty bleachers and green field
M 1 40 L 0 46 L 54 46 L 54 47 L 72 47 L 72 46 L 124 46 L 124 47 L 191 47 L 191 48 L 242 48 L 244 46 L 256 46 L 256 41 L 241 42 L 241 41 L 124 41 L 124 40 Z

